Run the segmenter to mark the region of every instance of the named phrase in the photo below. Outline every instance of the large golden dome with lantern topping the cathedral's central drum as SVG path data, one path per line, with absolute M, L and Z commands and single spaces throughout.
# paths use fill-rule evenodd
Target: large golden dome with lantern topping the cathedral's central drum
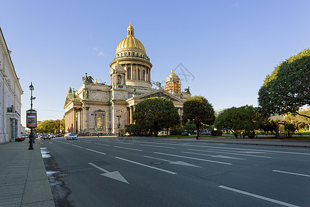
M 118 52 L 123 52 L 128 49 L 130 49 L 130 51 L 142 52 L 144 55 L 146 55 L 143 43 L 134 37 L 134 28 L 132 27 L 131 23 L 127 28 L 127 37 L 118 43 L 115 55 L 117 55 Z

